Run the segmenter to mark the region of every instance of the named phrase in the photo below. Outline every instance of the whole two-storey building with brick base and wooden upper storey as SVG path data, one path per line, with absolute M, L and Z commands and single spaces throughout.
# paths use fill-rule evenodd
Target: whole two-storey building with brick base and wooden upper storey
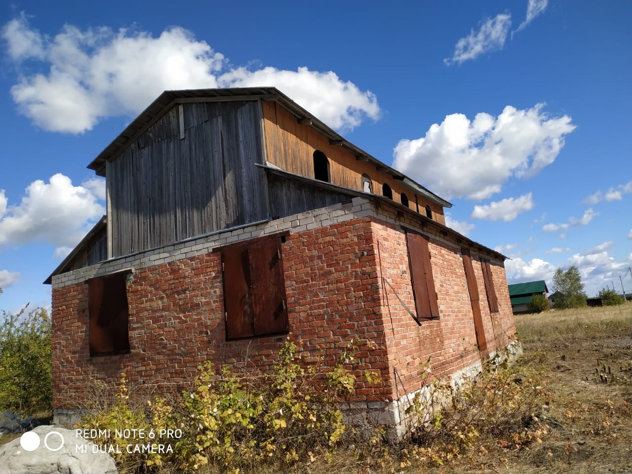
M 164 92 L 88 167 L 107 214 L 46 281 L 58 422 L 88 375 L 177 387 L 289 334 L 329 362 L 371 341 L 353 403 L 398 425 L 420 362 L 456 382 L 514 344 L 505 257 L 276 88 Z

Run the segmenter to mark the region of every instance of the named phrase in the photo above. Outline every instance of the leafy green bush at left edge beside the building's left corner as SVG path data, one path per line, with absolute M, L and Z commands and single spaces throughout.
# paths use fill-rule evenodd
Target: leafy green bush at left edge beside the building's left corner
M 25 308 L 26 309 L 26 308 Z M 51 410 L 51 318 L 37 308 L 0 325 L 0 410 L 32 415 Z

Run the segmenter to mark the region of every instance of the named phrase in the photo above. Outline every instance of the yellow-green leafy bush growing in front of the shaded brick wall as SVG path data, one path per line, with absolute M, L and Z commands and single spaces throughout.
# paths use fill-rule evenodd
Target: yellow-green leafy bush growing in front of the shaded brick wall
M 169 405 L 164 398 L 146 404 L 130 401 L 125 374 L 113 403 L 82 418 L 79 427 L 109 430 L 92 441 L 120 446 L 114 454 L 119 472 L 151 468 L 196 471 L 239 471 L 268 463 L 290 465 L 327 453 L 347 431 L 341 398 L 353 392 L 355 343 L 348 344 L 335 367 L 323 371 L 320 362 L 305 363 L 296 345 L 286 341 L 274 366 L 265 373 L 231 365 L 198 367 L 193 389 Z M 142 439 L 117 437 L 116 430 L 139 428 L 158 434 L 178 428 L 181 436 L 155 439 L 169 453 L 128 453 L 126 445 Z

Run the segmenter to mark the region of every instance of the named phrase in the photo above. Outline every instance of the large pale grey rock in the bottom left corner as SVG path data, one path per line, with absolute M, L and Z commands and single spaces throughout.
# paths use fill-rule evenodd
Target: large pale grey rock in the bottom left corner
M 44 446 L 44 438 L 52 431 L 64 439 L 58 451 Z M 0 474 L 117 474 L 114 459 L 106 453 L 94 453 L 94 443 L 76 436 L 73 430 L 45 425 L 29 433 L 39 435 L 37 449 L 25 451 L 20 438 L 0 447 Z M 61 445 L 59 435 L 51 434 L 47 444 L 57 449 Z M 98 451 L 96 447 L 94 451 Z

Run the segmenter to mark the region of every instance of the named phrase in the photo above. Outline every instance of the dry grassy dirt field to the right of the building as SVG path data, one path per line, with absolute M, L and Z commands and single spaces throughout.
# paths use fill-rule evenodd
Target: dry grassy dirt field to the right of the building
M 504 473 L 632 473 L 632 304 L 516 317 L 518 367 L 544 374 L 550 434 Z

